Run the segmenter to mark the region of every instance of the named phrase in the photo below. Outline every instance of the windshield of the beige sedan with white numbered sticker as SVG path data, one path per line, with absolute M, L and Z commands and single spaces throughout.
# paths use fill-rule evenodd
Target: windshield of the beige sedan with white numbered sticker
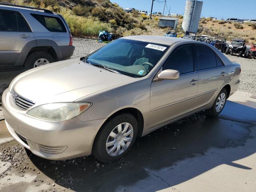
M 168 48 L 167 45 L 121 38 L 89 55 L 86 62 L 114 69 L 127 76 L 143 77 L 152 70 Z

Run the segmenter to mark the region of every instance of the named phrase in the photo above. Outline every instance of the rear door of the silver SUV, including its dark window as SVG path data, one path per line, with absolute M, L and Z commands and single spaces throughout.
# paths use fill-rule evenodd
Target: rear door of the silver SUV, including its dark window
M 1 66 L 14 65 L 24 46 L 33 40 L 34 34 L 19 12 L 0 9 Z

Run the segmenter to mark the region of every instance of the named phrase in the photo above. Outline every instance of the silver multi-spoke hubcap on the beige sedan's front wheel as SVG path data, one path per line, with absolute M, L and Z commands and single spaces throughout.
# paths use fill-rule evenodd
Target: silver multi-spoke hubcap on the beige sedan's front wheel
M 118 156 L 130 146 L 133 138 L 133 128 L 130 123 L 118 124 L 108 135 L 106 151 L 110 156 Z

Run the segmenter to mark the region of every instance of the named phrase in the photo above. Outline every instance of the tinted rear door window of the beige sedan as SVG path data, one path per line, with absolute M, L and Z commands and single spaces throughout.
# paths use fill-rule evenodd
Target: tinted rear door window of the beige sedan
M 215 53 L 207 46 L 195 45 L 198 70 L 214 68 L 216 64 Z

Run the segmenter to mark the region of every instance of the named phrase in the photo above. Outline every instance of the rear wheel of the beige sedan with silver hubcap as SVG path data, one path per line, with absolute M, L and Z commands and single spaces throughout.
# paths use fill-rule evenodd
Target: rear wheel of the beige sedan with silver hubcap
M 213 117 L 218 116 L 222 112 L 226 104 L 227 97 L 228 97 L 227 90 L 223 88 L 218 94 L 212 107 L 210 109 L 205 110 L 204 114 L 206 116 L 213 116 Z

